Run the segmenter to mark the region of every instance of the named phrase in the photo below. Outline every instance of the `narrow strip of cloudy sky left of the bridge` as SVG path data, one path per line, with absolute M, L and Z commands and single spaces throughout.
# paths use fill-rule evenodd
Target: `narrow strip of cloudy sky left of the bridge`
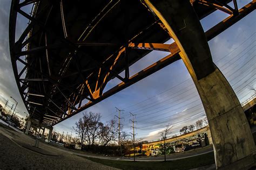
M 17 84 L 14 78 L 14 72 L 12 71 L 10 52 L 9 52 L 9 13 L 10 13 L 10 1 L 0 1 L 0 104 L 4 105 L 5 100 L 9 100 L 10 103 L 15 103 L 10 96 L 14 97 L 17 102 L 17 109 L 20 116 L 25 116 L 23 112 L 27 112 L 23 104 L 22 98 L 18 92 Z M 22 18 L 18 18 L 17 22 L 23 23 Z M 21 24 L 21 25 L 22 25 Z M 17 28 L 19 32 L 19 27 Z M 19 66 L 18 66 L 19 67 Z

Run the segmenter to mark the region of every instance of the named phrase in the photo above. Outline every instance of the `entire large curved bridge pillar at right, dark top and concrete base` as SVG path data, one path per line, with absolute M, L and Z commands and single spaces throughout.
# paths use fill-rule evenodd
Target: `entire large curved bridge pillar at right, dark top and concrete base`
M 190 1 L 145 0 L 176 41 L 210 125 L 218 169 L 253 164 L 255 144 L 244 111 L 230 84 L 214 65 L 207 39 Z

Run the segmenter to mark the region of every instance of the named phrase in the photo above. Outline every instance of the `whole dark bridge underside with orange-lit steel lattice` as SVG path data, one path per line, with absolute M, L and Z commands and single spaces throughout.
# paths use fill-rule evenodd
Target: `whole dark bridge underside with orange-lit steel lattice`
M 206 32 L 211 40 L 255 9 L 231 1 L 190 1 L 198 18 L 215 10 L 230 17 Z M 31 13 L 23 8 L 33 5 Z M 29 24 L 16 41 L 17 14 Z M 23 102 L 33 119 L 55 125 L 180 59 L 160 19 L 143 1 L 12 0 L 10 54 Z M 170 55 L 130 76 L 129 67 L 152 50 Z M 21 70 L 17 65 L 23 65 Z M 125 76 L 119 74 L 124 71 Z M 107 82 L 122 81 L 105 91 Z

